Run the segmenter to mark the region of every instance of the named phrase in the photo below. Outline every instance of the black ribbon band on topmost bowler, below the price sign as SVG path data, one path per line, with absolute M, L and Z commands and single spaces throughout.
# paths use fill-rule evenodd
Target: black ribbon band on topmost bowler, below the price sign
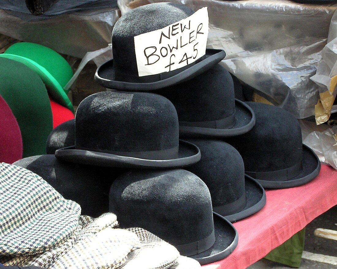
M 169 71 L 169 72 L 160 73 L 160 74 L 139 77 L 139 76 L 133 76 L 133 75 L 130 75 L 130 74 L 121 73 L 121 72 L 118 72 L 117 70 L 115 70 L 115 76 L 116 76 L 117 80 L 121 80 L 121 81 L 139 82 L 139 83 L 155 82 L 155 81 L 160 81 L 160 80 L 164 80 L 164 79 L 173 77 L 173 76 L 179 74 L 180 72 L 190 68 L 194 64 L 196 64 L 198 62 L 201 62 L 205 58 L 206 58 L 206 55 L 200 57 L 195 62 L 192 62 L 192 63 L 190 63 L 186 66 L 183 66 L 179 69 Z

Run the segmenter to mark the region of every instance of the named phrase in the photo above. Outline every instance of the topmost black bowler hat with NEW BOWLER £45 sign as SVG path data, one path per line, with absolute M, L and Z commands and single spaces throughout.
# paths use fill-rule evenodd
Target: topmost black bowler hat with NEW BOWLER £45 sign
M 112 32 L 114 58 L 96 71 L 95 80 L 111 89 L 149 91 L 191 79 L 225 57 L 206 49 L 207 8 L 153 3 L 123 15 Z

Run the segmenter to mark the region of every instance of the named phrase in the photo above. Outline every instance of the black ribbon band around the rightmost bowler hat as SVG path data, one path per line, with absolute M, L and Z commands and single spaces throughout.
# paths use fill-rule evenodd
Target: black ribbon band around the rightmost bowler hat
M 266 180 L 266 181 L 286 181 L 291 178 L 296 177 L 299 173 L 302 172 L 302 162 L 299 162 L 289 168 L 270 171 L 270 172 L 248 172 L 245 173 L 258 180 Z

